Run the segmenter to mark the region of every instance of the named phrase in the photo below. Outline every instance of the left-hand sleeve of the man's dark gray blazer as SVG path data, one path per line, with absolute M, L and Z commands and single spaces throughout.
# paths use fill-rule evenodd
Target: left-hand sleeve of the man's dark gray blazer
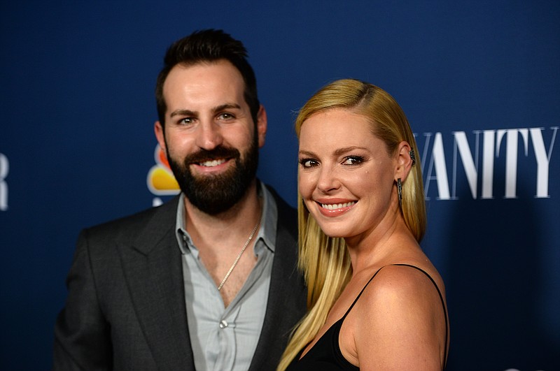
M 66 278 L 66 304 L 55 323 L 53 370 L 112 368 L 109 323 L 99 305 L 90 259 L 86 230 L 78 238 L 73 263 Z

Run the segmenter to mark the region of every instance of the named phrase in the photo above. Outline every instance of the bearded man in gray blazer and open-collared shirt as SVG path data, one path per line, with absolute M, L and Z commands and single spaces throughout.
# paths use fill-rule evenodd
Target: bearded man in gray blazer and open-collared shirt
M 54 368 L 274 370 L 306 293 L 295 210 L 255 177 L 267 116 L 244 46 L 176 41 L 156 101 L 181 194 L 80 234 Z

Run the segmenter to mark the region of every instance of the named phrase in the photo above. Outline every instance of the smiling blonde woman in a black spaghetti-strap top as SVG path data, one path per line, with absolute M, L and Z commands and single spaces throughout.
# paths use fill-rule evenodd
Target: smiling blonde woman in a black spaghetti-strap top
M 309 312 L 278 370 L 442 370 L 444 284 L 419 246 L 422 175 L 398 103 L 338 80 L 309 99 L 295 129 Z

